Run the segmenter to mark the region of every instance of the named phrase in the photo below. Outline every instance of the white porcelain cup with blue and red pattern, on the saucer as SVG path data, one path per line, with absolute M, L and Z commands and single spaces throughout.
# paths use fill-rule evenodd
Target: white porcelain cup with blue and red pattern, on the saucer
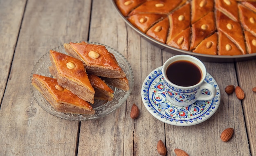
M 182 74 L 186 75 L 186 71 L 184 71 L 184 70 L 178 71 L 177 73 L 171 73 L 171 74 L 168 73 L 167 74 L 166 73 L 167 68 L 174 66 L 174 64 L 178 68 L 179 67 L 180 68 L 181 67 L 184 67 L 184 68 L 189 67 L 190 68 L 191 66 L 196 66 L 201 73 L 199 81 L 196 82 L 196 84 L 193 84 L 192 86 L 182 86 L 182 85 L 179 86 L 179 85 L 177 85 L 177 82 L 175 82 L 176 83 L 175 84 L 172 81 L 170 81 L 169 78 L 167 77 L 167 75 L 169 75 L 170 79 L 171 79 L 171 77 L 177 78 L 178 76 L 180 76 L 182 79 L 188 78 L 187 81 L 190 81 L 190 79 L 194 78 L 195 76 L 198 77 L 198 75 L 195 75 L 195 74 L 189 74 L 186 77 L 182 77 Z M 191 64 L 191 66 L 190 65 L 182 66 L 184 64 L 186 64 L 186 65 Z M 169 70 L 175 71 L 175 70 L 171 70 L 171 69 L 169 69 Z M 206 71 L 204 64 L 196 57 L 193 57 L 190 55 L 175 55 L 175 56 L 169 58 L 164 63 L 164 65 L 162 67 L 162 73 L 163 73 L 163 77 L 164 77 L 164 91 L 166 94 L 166 99 L 168 99 L 168 101 L 170 101 L 173 105 L 188 106 L 188 105 L 193 104 L 197 100 L 213 99 L 213 97 L 215 97 L 215 95 L 216 95 L 216 88 L 213 85 L 204 82 L 207 71 Z M 189 72 L 187 72 L 187 73 L 189 73 Z M 180 81 L 180 83 L 183 83 L 182 80 L 178 79 L 177 81 Z M 201 90 L 203 90 L 203 89 L 209 90 L 210 94 L 209 95 L 202 94 Z

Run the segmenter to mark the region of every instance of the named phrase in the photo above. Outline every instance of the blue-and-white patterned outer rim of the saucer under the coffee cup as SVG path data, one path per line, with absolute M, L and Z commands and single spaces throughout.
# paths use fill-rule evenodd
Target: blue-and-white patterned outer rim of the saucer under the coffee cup
M 159 81 L 157 79 L 162 77 L 162 66 L 156 68 L 155 70 L 153 70 L 150 74 L 148 74 L 148 76 L 145 78 L 144 82 L 142 83 L 141 86 L 141 99 L 144 103 L 144 106 L 146 107 L 146 109 L 148 110 L 148 112 L 150 112 L 151 115 L 153 115 L 156 119 L 170 124 L 170 125 L 176 125 L 176 126 L 191 126 L 191 125 L 196 125 L 199 123 L 202 123 L 203 121 L 206 121 L 207 119 L 209 119 L 211 116 L 213 116 L 213 114 L 218 110 L 218 107 L 220 105 L 220 88 L 216 82 L 216 80 L 209 74 L 207 73 L 207 77 L 205 79 L 205 81 L 207 83 L 211 83 L 213 84 L 213 86 L 215 86 L 216 90 L 217 90 L 217 94 L 216 97 L 214 97 L 213 99 L 209 100 L 210 105 L 207 108 L 207 110 L 203 111 L 202 114 L 200 114 L 199 116 L 196 116 L 195 118 L 191 118 L 191 119 L 172 119 L 171 117 L 168 117 L 166 115 L 161 114 L 159 111 L 157 110 L 153 105 L 152 102 L 150 101 L 150 90 L 151 90 L 151 86 L 153 85 L 154 82 Z M 169 105 L 167 103 L 167 105 Z M 194 104 L 192 104 L 194 105 Z M 179 107 L 179 106 L 175 106 L 177 108 L 187 108 L 187 107 Z

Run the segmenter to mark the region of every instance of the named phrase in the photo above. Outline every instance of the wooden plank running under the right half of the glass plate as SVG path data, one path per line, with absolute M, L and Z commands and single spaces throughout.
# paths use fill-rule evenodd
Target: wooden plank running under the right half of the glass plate
M 139 44 L 128 45 L 126 25 L 114 6 L 109 1 L 94 0 L 92 11 L 89 41 L 116 49 L 130 62 L 134 57 L 134 53 L 130 51 L 139 48 L 137 46 Z M 137 39 L 139 39 L 138 36 L 132 42 Z M 135 72 L 136 81 L 139 76 L 136 73 L 136 66 L 134 62 L 130 62 L 130 64 Z M 135 88 L 137 87 L 135 86 Z M 81 122 L 78 155 L 132 155 L 135 123 L 130 118 L 130 108 L 133 103 L 137 103 L 137 98 L 137 94 L 132 91 L 132 95 L 126 103 L 111 114 L 96 121 Z

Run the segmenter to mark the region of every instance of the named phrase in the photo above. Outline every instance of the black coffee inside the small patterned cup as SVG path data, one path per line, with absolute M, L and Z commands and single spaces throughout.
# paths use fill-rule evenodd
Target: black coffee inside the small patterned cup
M 166 69 L 168 79 L 178 86 L 193 86 L 202 77 L 202 72 L 192 62 L 181 60 L 170 64 Z

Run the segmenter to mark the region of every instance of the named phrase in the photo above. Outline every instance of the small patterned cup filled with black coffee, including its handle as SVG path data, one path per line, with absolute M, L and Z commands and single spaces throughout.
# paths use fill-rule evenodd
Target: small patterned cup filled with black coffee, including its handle
M 163 65 L 164 91 L 166 99 L 173 105 L 188 106 L 197 100 L 210 100 L 216 95 L 216 88 L 204 82 L 206 68 L 196 57 L 175 55 Z M 202 94 L 202 90 L 210 94 Z

